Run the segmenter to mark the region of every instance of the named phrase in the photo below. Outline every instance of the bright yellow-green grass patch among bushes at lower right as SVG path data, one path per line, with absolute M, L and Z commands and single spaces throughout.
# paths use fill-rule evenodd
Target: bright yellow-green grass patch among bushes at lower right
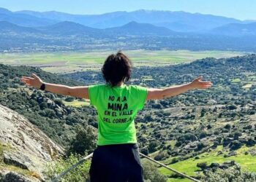
M 190 158 L 181 162 L 177 162 L 175 164 L 172 165 L 168 165 L 169 167 L 172 167 L 175 170 L 180 171 L 181 173 L 186 173 L 187 175 L 192 175 L 195 176 L 197 175 L 197 170 L 200 170 L 200 168 L 197 167 L 197 163 L 200 162 L 207 162 L 208 165 L 211 165 L 211 163 L 213 162 L 217 162 L 219 164 L 223 163 L 223 162 L 227 162 L 227 161 L 231 161 L 234 160 L 236 163 L 238 163 L 239 165 L 241 165 L 243 170 L 248 170 L 248 171 L 252 171 L 252 172 L 256 172 L 256 157 L 252 156 L 251 154 L 244 154 L 245 151 L 249 151 L 249 149 L 256 149 L 255 147 L 251 147 L 248 148 L 246 146 L 243 146 L 241 149 L 238 149 L 237 152 L 237 156 L 233 156 L 233 157 L 224 157 L 224 154 L 218 155 L 217 152 L 218 151 L 223 151 L 222 146 L 218 146 L 217 149 L 215 149 L 214 151 L 208 152 L 208 153 L 204 153 L 204 154 L 200 154 L 198 157 L 200 157 L 200 159 L 195 159 L 195 158 Z M 172 172 L 170 172 L 169 170 L 160 167 L 159 168 L 160 173 L 164 174 L 164 175 L 170 175 L 172 174 Z M 169 181 L 179 181 L 179 182 L 185 182 L 187 181 L 187 179 L 169 179 Z

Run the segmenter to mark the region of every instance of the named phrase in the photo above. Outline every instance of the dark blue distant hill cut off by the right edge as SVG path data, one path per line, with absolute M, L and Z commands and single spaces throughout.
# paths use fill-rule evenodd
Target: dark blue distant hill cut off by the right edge
M 256 23 L 231 23 L 214 28 L 211 33 L 226 36 L 256 36 Z

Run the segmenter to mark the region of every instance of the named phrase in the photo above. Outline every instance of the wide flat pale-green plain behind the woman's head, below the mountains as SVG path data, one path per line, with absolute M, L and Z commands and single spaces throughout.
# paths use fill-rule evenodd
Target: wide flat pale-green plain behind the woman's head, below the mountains
M 93 52 L 43 52 L 43 53 L 2 53 L 0 63 L 9 65 L 39 66 L 53 73 L 99 70 L 105 58 L 114 51 Z M 244 55 L 244 52 L 199 51 L 189 50 L 128 50 L 124 51 L 131 58 L 134 66 L 166 66 L 188 63 L 193 60 L 214 57 L 229 58 Z

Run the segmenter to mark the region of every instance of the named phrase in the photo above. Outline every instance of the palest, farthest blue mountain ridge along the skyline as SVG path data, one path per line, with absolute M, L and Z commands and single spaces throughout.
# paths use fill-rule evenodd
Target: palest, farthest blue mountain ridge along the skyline
M 56 21 L 73 21 L 94 28 L 111 28 L 125 25 L 131 21 L 165 26 L 174 31 L 201 31 L 216 28 L 227 23 L 241 23 L 229 17 L 203 15 L 189 12 L 138 10 L 134 12 L 110 12 L 102 15 L 71 15 L 63 12 L 20 11 L 39 18 Z

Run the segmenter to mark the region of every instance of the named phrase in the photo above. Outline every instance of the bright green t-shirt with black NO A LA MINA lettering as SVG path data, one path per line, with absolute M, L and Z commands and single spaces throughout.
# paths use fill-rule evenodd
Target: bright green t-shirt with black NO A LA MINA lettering
M 98 145 L 137 143 L 135 116 L 143 108 L 146 87 L 108 84 L 89 86 L 91 104 L 98 112 Z

